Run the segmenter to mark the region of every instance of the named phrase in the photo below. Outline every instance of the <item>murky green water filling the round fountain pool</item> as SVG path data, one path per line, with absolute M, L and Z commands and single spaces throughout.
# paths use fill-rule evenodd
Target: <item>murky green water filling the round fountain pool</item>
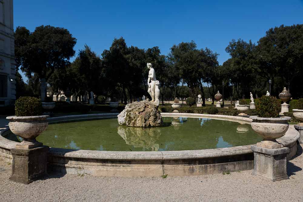
M 50 147 L 99 151 L 215 149 L 262 140 L 249 124 L 182 117 L 163 122 L 151 128 L 120 126 L 117 118 L 49 124 L 37 140 Z

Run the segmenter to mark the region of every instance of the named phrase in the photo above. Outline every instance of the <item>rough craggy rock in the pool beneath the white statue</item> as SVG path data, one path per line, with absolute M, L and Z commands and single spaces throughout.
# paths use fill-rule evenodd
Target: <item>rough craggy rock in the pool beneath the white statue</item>
M 120 125 L 133 127 L 150 127 L 162 125 L 162 117 L 158 106 L 148 100 L 127 104 L 118 115 Z

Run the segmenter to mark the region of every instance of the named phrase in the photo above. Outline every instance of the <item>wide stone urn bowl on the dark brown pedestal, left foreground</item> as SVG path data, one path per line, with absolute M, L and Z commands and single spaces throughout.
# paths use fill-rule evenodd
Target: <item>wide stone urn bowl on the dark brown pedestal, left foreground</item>
M 46 130 L 49 116 L 9 116 L 9 129 L 15 135 L 23 138 L 23 141 L 16 145 L 16 148 L 32 149 L 42 146 L 36 141 L 36 137 Z

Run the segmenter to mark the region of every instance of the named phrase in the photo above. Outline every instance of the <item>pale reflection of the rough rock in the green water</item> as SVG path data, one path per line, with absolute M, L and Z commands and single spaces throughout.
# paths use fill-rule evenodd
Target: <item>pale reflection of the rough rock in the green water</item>
M 142 151 L 151 148 L 151 151 L 158 151 L 159 144 L 155 142 L 161 135 L 160 127 L 141 128 L 119 126 L 118 134 L 125 140 L 125 143 L 134 147 L 142 147 Z

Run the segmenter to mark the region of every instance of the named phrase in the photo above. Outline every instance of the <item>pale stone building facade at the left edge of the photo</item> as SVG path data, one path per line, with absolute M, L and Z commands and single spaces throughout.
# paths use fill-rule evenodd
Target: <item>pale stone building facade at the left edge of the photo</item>
M 13 0 L 0 0 L 0 106 L 16 99 L 13 19 Z

